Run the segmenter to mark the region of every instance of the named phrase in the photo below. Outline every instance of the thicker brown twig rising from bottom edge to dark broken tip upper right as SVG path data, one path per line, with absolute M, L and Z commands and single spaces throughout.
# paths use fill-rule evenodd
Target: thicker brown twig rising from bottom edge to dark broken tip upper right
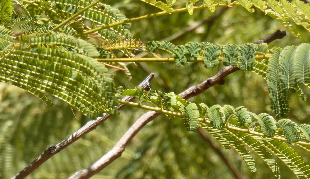
M 280 31 L 281 32 L 281 31 Z M 275 36 L 278 33 L 276 31 L 271 36 Z M 284 35 L 285 36 L 285 35 Z M 283 37 L 284 37 L 283 36 Z M 270 37 L 270 36 L 269 36 Z M 283 38 L 282 37 L 282 38 Z M 270 39 L 270 38 L 265 38 Z M 261 40 L 261 43 L 270 43 L 267 40 Z M 275 40 L 276 38 L 272 38 Z M 233 72 L 239 70 L 236 66 L 228 66 L 222 68 L 217 74 L 215 74 L 213 77 L 206 79 L 200 84 L 197 84 L 195 86 L 192 86 L 185 90 L 184 92 L 181 92 L 179 96 L 183 97 L 183 99 L 188 99 L 193 96 L 197 96 L 200 93 L 204 92 L 208 88 L 216 85 L 216 84 L 224 84 L 224 78 L 232 74 Z M 108 166 L 108 164 L 112 163 L 115 159 L 120 157 L 122 153 L 124 152 L 126 146 L 129 144 L 131 139 L 150 121 L 155 119 L 157 116 L 159 116 L 160 113 L 149 111 L 145 114 L 143 114 L 128 130 L 127 132 L 122 136 L 122 138 L 114 145 L 114 147 L 108 151 L 108 153 L 104 154 L 99 160 L 97 160 L 95 163 L 93 163 L 90 167 L 85 168 L 81 171 L 75 172 L 69 179 L 87 179 L 91 176 L 95 175 L 96 173 L 100 172 L 103 168 Z

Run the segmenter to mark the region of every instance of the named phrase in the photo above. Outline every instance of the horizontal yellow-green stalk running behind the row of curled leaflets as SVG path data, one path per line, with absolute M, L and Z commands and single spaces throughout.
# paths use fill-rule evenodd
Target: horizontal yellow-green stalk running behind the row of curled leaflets
M 256 60 L 269 58 L 270 55 L 257 55 Z M 95 60 L 99 62 L 175 62 L 173 58 L 96 58 Z M 222 57 L 219 57 L 222 60 Z M 202 62 L 202 58 L 197 58 L 197 60 L 189 60 L 190 62 Z

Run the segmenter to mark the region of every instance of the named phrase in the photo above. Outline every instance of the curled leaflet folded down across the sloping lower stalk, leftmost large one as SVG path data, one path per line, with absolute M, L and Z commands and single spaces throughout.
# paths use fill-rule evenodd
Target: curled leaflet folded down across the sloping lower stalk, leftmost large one
M 197 131 L 199 127 L 199 111 L 197 110 L 197 105 L 194 103 L 188 104 L 186 107 L 178 101 L 179 110 L 182 111 L 182 114 L 185 116 L 184 126 L 187 131 Z

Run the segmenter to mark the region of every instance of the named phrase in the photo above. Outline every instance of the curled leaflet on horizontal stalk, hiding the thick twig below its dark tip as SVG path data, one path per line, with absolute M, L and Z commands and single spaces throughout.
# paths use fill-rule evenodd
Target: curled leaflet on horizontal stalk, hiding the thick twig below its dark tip
M 238 66 L 241 70 L 245 70 L 246 73 L 253 69 L 256 48 L 257 46 L 251 43 L 243 44 L 239 47 Z

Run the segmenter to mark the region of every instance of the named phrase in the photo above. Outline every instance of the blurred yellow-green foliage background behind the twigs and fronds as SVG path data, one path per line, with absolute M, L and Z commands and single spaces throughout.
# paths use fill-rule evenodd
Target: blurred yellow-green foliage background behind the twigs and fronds
M 174 8 L 184 7 L 178 1 Z M 127 18 L 142 16 L 159 10 L 138 0 L 107 0 L 105 4 L 117 8 Z M 249 13 L 243 7 L 221 9 L 215 13 L 208 9 L 155 17 L 133 22 L 128 29 L 135 38 L 144 43 L 162 40 L 220 13 L 214 20 L 207 21 L 197 29 L 187 32 L 171 42 L 180 45 L 190 41 L 211 43 L 253 43 L 267 37 L 277 29 L 286 30 L 280 23 L 263 12 Z M 309 43 L 310 34 L 298 27 L 302 38 L 295 38 L 288 30 L 287 36 L 272 42 L 269 46 L 285 47 Z M 139 54 L 140 52 L 135 52 Z M 126 64 L 132 79 L 126 74 L 111 69 L 118 86 L 134 88 L 150 72 L 155 73 L 152 89 L 162 92 L 179 93 L 188 87 L 213 76 L 223 66 L 205 69 L 202 63 L 189 63 L 176 67 L 174 63 Z M 211 87 L 189 101 L 196 104 L 245 106 L 249 111 L 272 114 L 267 83 L 254 73 L 237 71 L 225 78 L 224 85 Z M 310 90 L 303 88 L 306 95 Z M 80 112 L 51 97 L 55 106 L 46 106 L 38 98 L 11 85 L 0 83 L 0 178 L 14 176 L 28 163 L 41 154 L 49 145 L 55 145 L 82 127 L 87 121 Z M 309 102 L 303 102 L 296 94 L 290 95 L 289 119 L 294 122 L 310 123 Z M 28 178 L 67 178 L 74 172 L 88 167 L 99 159 L 126 132 L 126 130 L 146 111 L 125 107 L 121 115 L 111 117 L 94 131 L 56 154 Z M 211 137 L 215 146 L 219 144 Z M 299 150 L 310 163 L 308 152 Z M 220 148 L 227 160 L 245 178 L 272 178 L 272 173 L 263 161 L 255 158 L 257 172 L 251 173 L 241 157 L 234 150 Z M 254 154 L 255 156 L 255 154 Z M 294 178 L 293 174 L 281 166 L 282 178 Z M 234 178 L 223 160 L 198 132 L 187 132 L 181 119 L 167 119 L 161 115 L 148 123 L 126 148 L 120 158 L 104 168 L 92 178 Z

